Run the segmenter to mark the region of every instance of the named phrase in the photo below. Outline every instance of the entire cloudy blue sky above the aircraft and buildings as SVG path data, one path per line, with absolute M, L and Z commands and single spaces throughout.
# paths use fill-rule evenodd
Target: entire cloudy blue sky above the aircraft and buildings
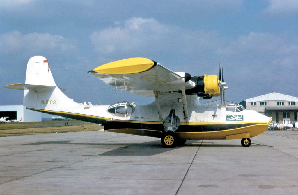
M 24 83 L 32 56 L 49 60 L 58 87 L 77 102 L 109 105 L 153 101 L 115 91 L 87 72 L 145 57 L 192 76 L 218 74 L 226 100 L 278 92 L 298 97 L 298 1 L 39 1 L 0 2 L 0 84 Z M 1 87 L 0 105 L 23 102 Z M 218 98 L 212 98 L 217 100 Z

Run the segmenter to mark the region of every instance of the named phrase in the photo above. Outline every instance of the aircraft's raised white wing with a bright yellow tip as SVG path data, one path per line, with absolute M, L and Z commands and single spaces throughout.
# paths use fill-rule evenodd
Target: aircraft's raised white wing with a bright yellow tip
M 188 73 L 175 73 L 146 58 L 129 58 L 101 65 L 89 71 L 119 91 L 154 98 L 154 92 L 178 92 L 195 87 Z

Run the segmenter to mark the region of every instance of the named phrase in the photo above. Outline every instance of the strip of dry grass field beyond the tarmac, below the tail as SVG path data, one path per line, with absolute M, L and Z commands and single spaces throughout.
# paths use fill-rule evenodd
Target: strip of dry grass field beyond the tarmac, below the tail
M 65 124 L 67 122 L 67 125 Z M 64 133 L 75 131 L 102 130 L 103 126 L 83 122 L 79 120 L 70 121 L 42 121 L 42 122 L 9 122 L 0 123 L 0 136 L 24 133 Z

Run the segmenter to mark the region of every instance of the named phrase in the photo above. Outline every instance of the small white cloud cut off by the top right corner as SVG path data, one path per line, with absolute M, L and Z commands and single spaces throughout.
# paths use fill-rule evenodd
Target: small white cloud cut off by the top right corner
M 270 4 L 264 10 L 265 13 L 288 15 L 288 14 L 298 12 L 297 0 L 267 0 L 267 1 L 269 1 Z

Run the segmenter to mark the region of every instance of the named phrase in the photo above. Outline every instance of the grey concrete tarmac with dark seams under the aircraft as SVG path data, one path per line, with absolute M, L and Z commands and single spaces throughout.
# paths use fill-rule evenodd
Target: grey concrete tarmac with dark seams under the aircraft
M 111 132 L 0 137 L 0 194 L 297 194 L 298 130 L 240 140 Z

